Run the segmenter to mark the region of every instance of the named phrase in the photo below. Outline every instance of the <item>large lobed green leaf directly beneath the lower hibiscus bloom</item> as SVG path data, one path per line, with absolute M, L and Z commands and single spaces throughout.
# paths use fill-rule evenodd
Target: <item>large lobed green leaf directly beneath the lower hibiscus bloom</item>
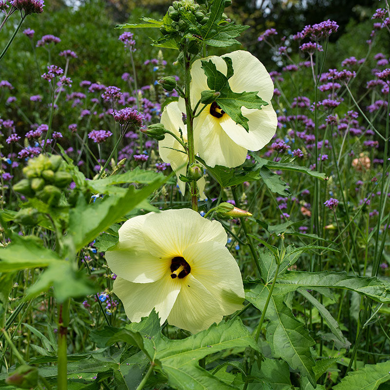
M 253 337 L 238 318 L 214 324 L 181 340 L 170 340 L 160 332 L 156 333 L 159 320 L 154 311 L 139 324 L 131 325 L 117 332 L 108 344 L 125 341 L 136 345 L 161 368 L 168 377 L 169 386 L 174 389 L 230 390 L 230 385 L 201 368 L 198 361 L 212 353 L 237 347 L 258 350 Z

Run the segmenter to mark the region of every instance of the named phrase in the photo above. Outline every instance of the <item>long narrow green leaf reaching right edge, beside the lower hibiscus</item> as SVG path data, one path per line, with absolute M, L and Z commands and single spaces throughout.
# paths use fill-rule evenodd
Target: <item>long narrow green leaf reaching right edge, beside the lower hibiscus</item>
M 348 276 L 345 272 L 299 272 L 291 271 L 277 279 L 276 288 L 284 293 L 299 287 L 313 289 L 328 287 L 358 292 L 376 302 L 390 303 L 390 283 L 376 277 Z

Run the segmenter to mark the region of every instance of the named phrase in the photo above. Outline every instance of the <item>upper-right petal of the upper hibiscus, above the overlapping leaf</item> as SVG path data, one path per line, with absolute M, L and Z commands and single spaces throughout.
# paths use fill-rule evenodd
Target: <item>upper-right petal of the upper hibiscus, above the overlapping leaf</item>
M 229 78 L 229 85 L 233 92 L 258 91 L 257 96 L 263 100 L 270 101 L 272 99 L 272 78 L 256 57 L 244 50 L 237 50 L 222 57 L 232 59 L 234 75 Z

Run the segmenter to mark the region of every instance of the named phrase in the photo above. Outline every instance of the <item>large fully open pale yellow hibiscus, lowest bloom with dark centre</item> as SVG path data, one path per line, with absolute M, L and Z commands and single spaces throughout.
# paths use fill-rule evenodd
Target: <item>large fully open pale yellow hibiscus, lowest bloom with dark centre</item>
M 131 321 L 156 308 L 161 324 L 195 333 L 242 308 L 241 273 L 218 221 L 166 210 L 131 218 L 118 233 L 106 260 Z

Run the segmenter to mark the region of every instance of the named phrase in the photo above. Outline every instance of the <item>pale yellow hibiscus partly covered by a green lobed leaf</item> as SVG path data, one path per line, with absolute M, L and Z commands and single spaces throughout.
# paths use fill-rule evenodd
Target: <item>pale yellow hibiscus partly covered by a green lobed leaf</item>
M 227 65 L 223 57 L 232 59 L 234 75 L 229 78 L 231 90 L 236 93 L 258 91 L 257 96 L 268 103 L 261 110 L 241 108 L 242 115 L 249 119 L 249 132 L 221 111 L 215 102 L 194 119 L 195 149 L 199 156 L 210 167 L 223 165 L 232 168 L 244 163 L 248 150 L 260 150 L 270 142 L 276 132 L 277 117 L 271 104 L 273 81 L 264 65 L 243 50 L 222 57 L 207 57 L 205 60 L 211 60 L 216 69 L 226 75 Z M 198 59 L 191 68 L 190 92 L 194 107 L 201 92 L 210 89 L 201 65 Z M 180 99 L 179 108 L 183 110 L 184 107 L 184 99 Z M 197 112 L 201 107 L 202 104 Z

